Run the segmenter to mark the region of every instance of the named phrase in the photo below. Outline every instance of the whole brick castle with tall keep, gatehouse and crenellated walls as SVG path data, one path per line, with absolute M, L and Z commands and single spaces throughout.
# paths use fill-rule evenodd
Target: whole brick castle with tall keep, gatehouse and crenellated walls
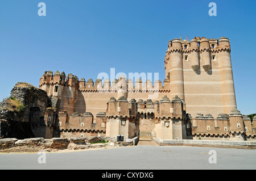
M 61 137 L 105 135 L 140 140 L 249 140 L 253 121 L 237 110 L 230 42 L 226 37 L 169 41 L 166 78 L 110 83 L 46 71 L 39 89 L 59 100 Z

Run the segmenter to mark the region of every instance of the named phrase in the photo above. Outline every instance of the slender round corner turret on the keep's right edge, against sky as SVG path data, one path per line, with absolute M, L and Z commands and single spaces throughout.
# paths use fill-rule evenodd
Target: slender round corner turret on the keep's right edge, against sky
M 226 37 L 218 39 L 219 47 L 217 58 L 219 61 L 220 81 L 224 112 L 230 113 L 237 108 L 234 91 L 233 71 L 230 58 L 230 43 Z

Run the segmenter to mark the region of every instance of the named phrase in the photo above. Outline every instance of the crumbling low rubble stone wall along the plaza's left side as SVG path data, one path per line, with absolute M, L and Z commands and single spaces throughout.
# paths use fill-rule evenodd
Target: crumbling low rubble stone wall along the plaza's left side
M 105 142 L 102 142 L 105 141 Z M 105 146 L 133 146 L 137 145 L 138 137 L 118 142 L 110 137 L 73 137 L 73 138 L 16 138 L 0 139 L 0 153 L 33 153 L 39 151 L 82 150 L 89 148 L 102 148 Z

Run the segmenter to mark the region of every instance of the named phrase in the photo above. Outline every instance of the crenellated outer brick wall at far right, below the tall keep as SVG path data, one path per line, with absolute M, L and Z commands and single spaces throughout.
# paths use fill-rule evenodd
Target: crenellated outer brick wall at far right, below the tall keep
M 229 138 L 229 140 L 245 140 L 255 138 L 255 125 L 250 118 L 242 115 L 240 111 L 233 110 L 230 115 L 219 114 L 214 118 L 212 115 L 197 113 L 191 120 L 192 136 L 199 137 Z

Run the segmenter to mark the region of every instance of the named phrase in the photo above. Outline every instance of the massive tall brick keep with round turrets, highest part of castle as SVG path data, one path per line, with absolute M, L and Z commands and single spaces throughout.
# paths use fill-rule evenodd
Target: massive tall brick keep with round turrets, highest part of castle
M 164 89 L 170 89 L 171 99 L 177 95 L 184 100 L 184 110 L 192 117 L 198 110 L 216 117 L 236 108 L 230 43 L 226 37 L 169 41 L 164 68 Z

